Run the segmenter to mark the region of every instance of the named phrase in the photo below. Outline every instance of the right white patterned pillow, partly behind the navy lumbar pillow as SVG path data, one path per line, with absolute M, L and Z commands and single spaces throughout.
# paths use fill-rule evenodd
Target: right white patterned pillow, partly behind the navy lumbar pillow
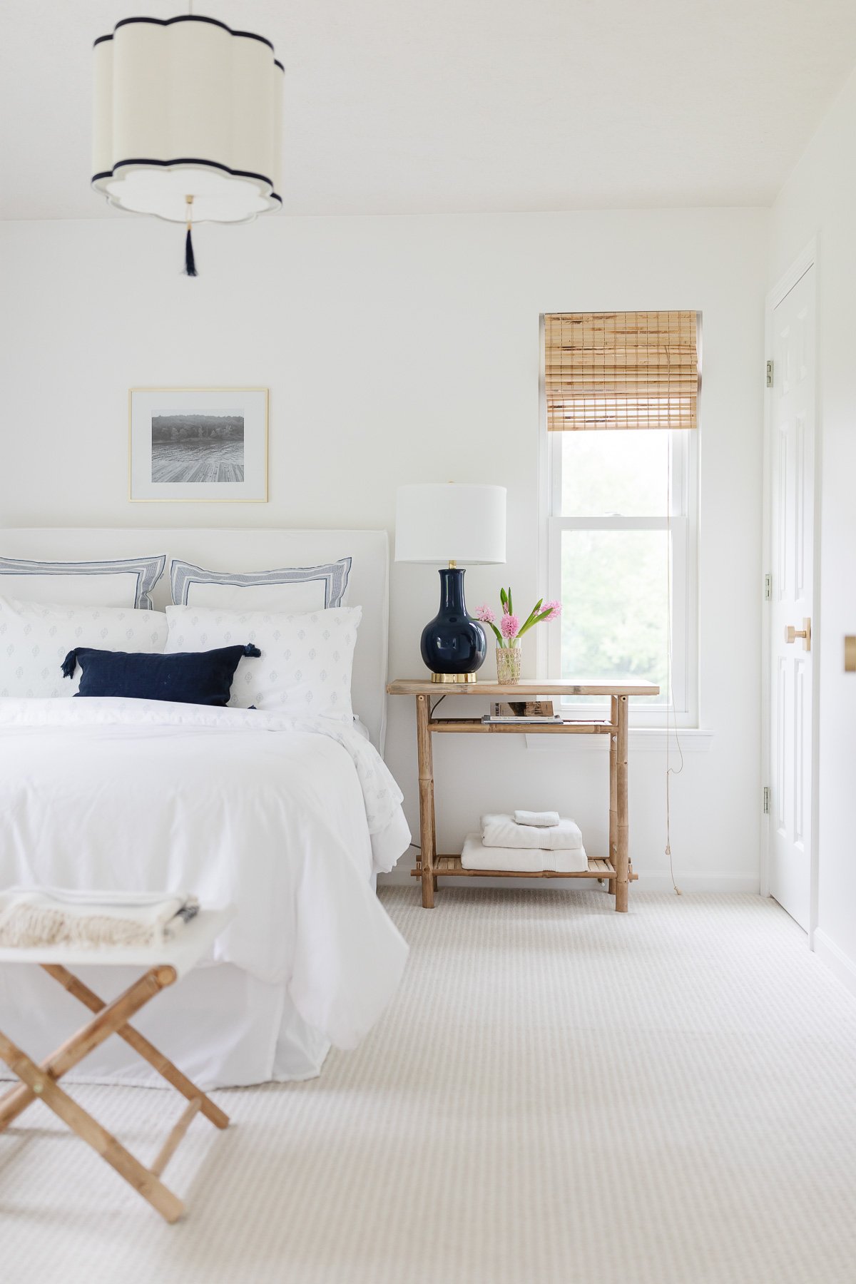
M 168 606 L 167 654 L 254 642 L 259 659 L 241 660 L 228 704 L 289 718 L 335 718 L 353 725 L 350 673 L 362 606 L 308 615 Z

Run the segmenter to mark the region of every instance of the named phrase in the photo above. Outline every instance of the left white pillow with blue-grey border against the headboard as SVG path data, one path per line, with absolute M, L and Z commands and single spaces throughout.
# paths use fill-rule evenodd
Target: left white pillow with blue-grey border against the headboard
M 0 594 L 19 602 L 68 606 L 136 606 L 151 610 L 149 593 L 167 555 L 121 561 L 49 562 L 0 557 Z

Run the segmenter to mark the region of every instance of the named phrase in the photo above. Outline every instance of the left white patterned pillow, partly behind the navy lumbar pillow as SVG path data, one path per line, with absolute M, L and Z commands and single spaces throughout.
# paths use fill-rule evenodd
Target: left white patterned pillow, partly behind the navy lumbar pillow
M 163 611 L 126 606 L 44 606 L 0 597 L 0 696 L 73 696 L 80 666 L 63 678 L 62 663 L 76 646 L 103 651 L 162 652 Z

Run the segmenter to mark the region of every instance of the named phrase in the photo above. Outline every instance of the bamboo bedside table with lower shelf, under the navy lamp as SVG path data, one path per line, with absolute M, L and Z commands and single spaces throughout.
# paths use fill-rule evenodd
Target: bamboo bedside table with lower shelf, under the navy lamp
M 565 682 L 524 679 L 513 686 L 499 682 L 443 683 L 438 686 L 421 678 L 397 678 L 386 687 L 390 696 L 416 696 L 416 749 L 420 768 L 420 842 L 421 854 L 411 871 L 422 882 L 422 905 L 434 908 L 438 876 L 481 878 L 607 878 L 615 908 L 626 913 L 628 887 L 635 874 L 630 865 L 628 841 L 628 701 L 630 696 L 656 696 L 653 682 Z M 481 718 L 435 718 L 431 698 L 440 696 L 483 696 L 498 700 L 535 700 L 539 696 L 608 696 L 610 719 L 565 720 L 561 723 L 483 723 Z M 610 737 L 610 851 L 607 856 L 589 856 L 589 868 L 581 873 L 524 873 L 507 869 L 465 869 L 461 856 L 440 856 L 436 851 L 434 811 L 434 756 L 431 737 L 438 732 L 526 736 L 608 736 Z

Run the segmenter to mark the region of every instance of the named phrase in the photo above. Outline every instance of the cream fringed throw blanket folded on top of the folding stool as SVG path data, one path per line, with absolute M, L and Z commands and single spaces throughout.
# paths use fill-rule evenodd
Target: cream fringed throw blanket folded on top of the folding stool
M 73 949 L 163 945 L 199 910 L 185 892 L 12 887 L 0 894 L 0 946 Z

